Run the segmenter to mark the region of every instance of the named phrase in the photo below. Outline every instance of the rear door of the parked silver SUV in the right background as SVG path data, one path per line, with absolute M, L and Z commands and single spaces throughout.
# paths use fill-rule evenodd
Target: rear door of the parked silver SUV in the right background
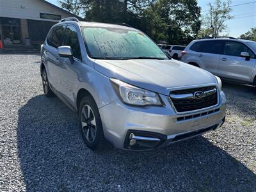
M 200 67 L 212 74 L 218 74 L 220 54 L 223 52 L 223 46 L 224 42 L 222 40 L 205 41 L 202 52 L 198 53 Z

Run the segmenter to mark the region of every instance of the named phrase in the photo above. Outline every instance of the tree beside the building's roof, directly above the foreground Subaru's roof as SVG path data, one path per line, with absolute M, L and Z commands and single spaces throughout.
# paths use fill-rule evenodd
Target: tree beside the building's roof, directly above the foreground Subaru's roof
M 61 7 L 86 20 L 129 22 L 154 0 L 59 0 Z M 131 17 L 131 18 L 130 18 Z

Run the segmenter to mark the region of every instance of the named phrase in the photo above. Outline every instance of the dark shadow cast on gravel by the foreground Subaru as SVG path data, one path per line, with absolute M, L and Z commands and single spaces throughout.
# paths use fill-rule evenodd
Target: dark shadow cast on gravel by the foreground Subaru
M 19 109 L 17 145 L 28 191 L 253 191 L 246 166 L 200 136 L 150 152 L 83 144 L 78 117 L 59 99 Z

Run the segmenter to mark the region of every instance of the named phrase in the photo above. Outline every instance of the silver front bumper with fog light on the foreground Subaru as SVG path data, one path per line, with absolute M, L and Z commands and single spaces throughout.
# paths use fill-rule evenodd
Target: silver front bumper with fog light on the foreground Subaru
M 164 107 L 140 108 L 116 100 L 100 108 L 105 138 L 116 148 L 148 150 L 218 129 L 225 121 L 223 92 L 220 92 L 218 106 L 182 115 L 175 112 L 167 96 L 160 96 L 166 104 Z M 145 140 L 147 138 L 151 141 Z

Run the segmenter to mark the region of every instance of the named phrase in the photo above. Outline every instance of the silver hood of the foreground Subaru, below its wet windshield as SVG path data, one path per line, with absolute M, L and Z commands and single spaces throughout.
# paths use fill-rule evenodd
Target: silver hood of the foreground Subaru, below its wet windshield
M 209 72 L 177 60 L 95 60 L 95 70 L 125 83 L 169 95 L 170 88 L 216 83 Z

